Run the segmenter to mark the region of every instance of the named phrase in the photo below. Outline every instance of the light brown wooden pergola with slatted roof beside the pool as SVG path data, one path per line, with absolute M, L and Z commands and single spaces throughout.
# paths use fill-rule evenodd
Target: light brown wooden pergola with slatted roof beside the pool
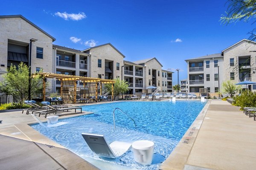
M 45 94 L 46 94 L 46 79 L 58 79 L 61 81 L 61 88 L 63 88 L 64 82 L 73 82 L 73 88 L 75 89 L 75 97 L 74 97 L 74 103 L 76 103 L 76 81 L 83 82 L 84 87 L 85 83 L 87 82 L 95 82 L 96 85 L 96 91 L 95 91 L 95 98 L 96 101 L 98 101 L 98 85 L 100 85 L 100 95 L 102 94 L 102 84 L 112 84 L 112 100 L 113 100 L 113 91 L 114 91 L 114 83 L 115 80 L 111 79 L 98 79 L 98 78 L 92 78 L 92 77 L 81 77 L 81 76 L 73 76 L 73 75 L 65 75 L 65 74 L 55 74 L 55 73 L 47 73 L 47 72 L 40 72 L 32 74 L 32 78 L 40 76 L 43 79 L 43 100 L 45 101 Z M 63 91 L 61 91 L 63 93 Z M 62 95 L 62 94 L 61 94 Z

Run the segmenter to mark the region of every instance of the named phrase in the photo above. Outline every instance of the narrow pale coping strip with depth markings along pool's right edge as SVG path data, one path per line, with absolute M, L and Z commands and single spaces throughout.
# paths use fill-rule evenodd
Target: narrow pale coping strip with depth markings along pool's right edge
M 180 142 L 176 145 L 172 153 L 161 164 L 159 170 L 183 170 L 186 162 L 189 158 L 189 153 L 195 143 L 195 139 L 198 136 L 198 132 L 203 123 L 204 117 L 207 113 L 211 100 L 207 101 L 207 104 L 198 114 L 194 122 L 189 129 L 180 139 Z

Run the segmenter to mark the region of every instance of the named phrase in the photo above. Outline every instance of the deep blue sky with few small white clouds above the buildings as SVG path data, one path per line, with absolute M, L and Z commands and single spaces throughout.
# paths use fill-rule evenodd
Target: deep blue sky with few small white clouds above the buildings
M 221 24 L 225 2 L 6 0 L 1 2 L 0 15 L 23 15 L 55 37 L 56 45 L 84 50 L 111 42 L 125 60 L 156 57 L 163 69 L 180 68 L 179 78 L 186 79 L 184 59 L 220 53 L 248 38 L 254 28 L 252 21 Z M 173 74 L 173 85 L 176 83 L 177 73 Z

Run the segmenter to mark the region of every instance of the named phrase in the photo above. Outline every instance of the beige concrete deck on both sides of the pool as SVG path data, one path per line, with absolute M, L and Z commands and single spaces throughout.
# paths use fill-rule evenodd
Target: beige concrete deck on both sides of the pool
M 88 114 L 68 113 L 60 118 Z M 40 119 L 46 121 L 44 116 Z M 7 112 L 0 113 L 0 120 L 1 169 L 98 170 L 30 127 L 28 124 L 35 123 L 32 116 L 21 111 Z M 160 169 L 256 169 L 255 141 L 253 117 L 245 116 L 239 107 L 226 101 L 210 100 Z

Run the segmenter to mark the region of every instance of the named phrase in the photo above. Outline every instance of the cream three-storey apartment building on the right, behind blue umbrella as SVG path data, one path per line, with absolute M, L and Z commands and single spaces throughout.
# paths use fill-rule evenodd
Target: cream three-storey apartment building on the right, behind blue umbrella
M 199 88 L 207 88 L 209 93 L 218 93 L 221 91 L 222 82 L 227 80 L 234 83 L 256 81 L 256 42 L 250 40 L 241 40 L 218 54 L 185 61 L 189 93 L 199 92 Z M 256 86 L 250 85 L 249 89 L 256 90 Z

